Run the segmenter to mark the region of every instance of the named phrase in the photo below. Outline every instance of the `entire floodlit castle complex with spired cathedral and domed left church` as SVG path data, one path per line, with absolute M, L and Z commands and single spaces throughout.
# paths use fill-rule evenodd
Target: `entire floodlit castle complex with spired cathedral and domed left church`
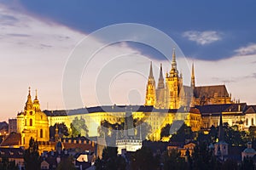
M 151 63 L 145 105 L 102 105 L 69 111 L 41 111 L 37 92 L 32 100 L 29 89 L 24 111 L 18 113 L 16 120 L 11 119 L 9 122 L 9 127 L 16 127 L 9 129 L 9 132 L 17 134 L 15 139 L 18 142 L 15 143 L 14 140 L 7 138 L 1 146 L 28 147 L 29 139 L 32 137 L 41 144 L 39 147 L 42 150 L 52 150 L 55 146 L 49 141 L 50 126 L 65 123 L 70 129 L 71 122 L 81 117 L 88 127 L 88 136 L 97 137 L 99 136 L 97 129 L 102 121 L 112 124 L 122 123 L 127 112 L 131 113 L 133 119 L 137 119 L 138 122 L 148 123 L 151 129 L 146 139 L 153 141 L 160 141 L 162 127 L 175 122 L 184 122 L 192 131 L 217 127 L 220 114 L 223 122 L 228 122 L 230 126 L 236 125 L 240 130 L 247 130 L 248 127 L 256 125 L 256 106 L 233 102 L 231 94 L 224 85 L 195 86 L 194 65 L 192 65 L 190 85 L 183 85 L 183 76 L 177 71 L 176 54 L 173 51 L 172 69 L 166 73 L 164 79 L 160 65 L 157 86 Z M 84 133 L 81 135 L 85 136 Z M 9 144 L 9 142 L 13 143 Z

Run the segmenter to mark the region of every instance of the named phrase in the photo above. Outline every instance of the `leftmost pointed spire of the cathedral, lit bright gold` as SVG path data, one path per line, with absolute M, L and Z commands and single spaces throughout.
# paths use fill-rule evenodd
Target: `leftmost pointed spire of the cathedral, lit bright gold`
M 151 62 L 149 76 L 148 76 L 145 105 L 155 105 L 155 100 L 156 100 L 155 99 L 155 81 L 154 81 L 152 62 Z

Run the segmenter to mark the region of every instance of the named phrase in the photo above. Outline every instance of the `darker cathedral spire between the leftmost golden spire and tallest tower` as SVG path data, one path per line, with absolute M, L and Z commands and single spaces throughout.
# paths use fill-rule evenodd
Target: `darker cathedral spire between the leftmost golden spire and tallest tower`
M 165 82 L 163 77 L 162 64 L 160 64 L 160 75 L 158 79 L 158 85 L 156 89 L 156 104 L 157 108 L 165 108 Z

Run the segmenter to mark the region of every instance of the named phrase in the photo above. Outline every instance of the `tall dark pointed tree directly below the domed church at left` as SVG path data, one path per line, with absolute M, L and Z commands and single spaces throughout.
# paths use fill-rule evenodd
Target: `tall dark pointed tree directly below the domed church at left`
M 29 140 L 29 147 L 25 150 L 24 161 L 26 170 L 40 169 L 40 161 L 38 154 L 38 142 L 34 139 Z

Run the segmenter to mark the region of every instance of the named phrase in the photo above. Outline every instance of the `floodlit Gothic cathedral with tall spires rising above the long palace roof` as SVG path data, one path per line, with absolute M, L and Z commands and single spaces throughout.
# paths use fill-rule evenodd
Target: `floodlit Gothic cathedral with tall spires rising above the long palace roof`
M 146 89 L 145 105 L 153 105 L 159 109 L 233 103 L 231 94 L 228 93 L 225 85 L 196 87 L 194 64 L 192 65 L 190 86 L 183 85 L 183 75 L 177 71 L 175 49 L 172 53 L 172 69 L 166 73 L 166 83 L 162 65 L 160 65 L 160 76 L 156 87 L 151 63 Z

